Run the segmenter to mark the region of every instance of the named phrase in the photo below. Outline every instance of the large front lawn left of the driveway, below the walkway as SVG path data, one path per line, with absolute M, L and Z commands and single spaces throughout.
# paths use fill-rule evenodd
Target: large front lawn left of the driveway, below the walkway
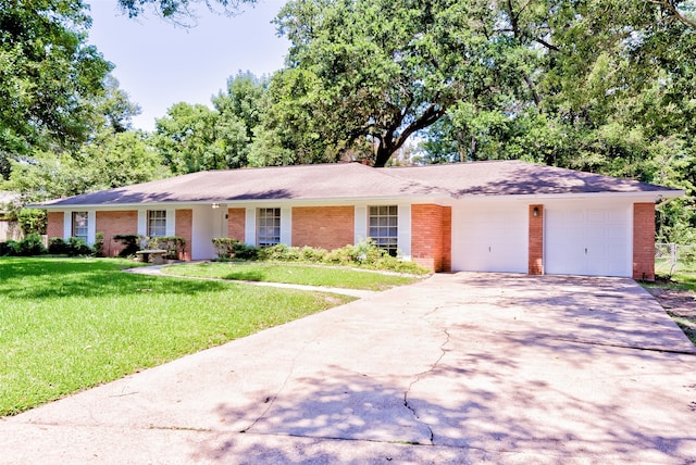
M 352 300 L 0 257 L 0 416 Z

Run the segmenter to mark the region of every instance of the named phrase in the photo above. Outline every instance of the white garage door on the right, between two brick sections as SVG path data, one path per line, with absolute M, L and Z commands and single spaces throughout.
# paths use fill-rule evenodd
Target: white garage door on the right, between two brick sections
M 631 276 L 630 212 L 625 205 L 547 205 L 546 273 Z

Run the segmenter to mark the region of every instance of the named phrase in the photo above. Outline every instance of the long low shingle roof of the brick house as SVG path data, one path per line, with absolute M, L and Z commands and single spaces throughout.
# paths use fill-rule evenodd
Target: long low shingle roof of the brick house
M 372 168 L 359 163 L 194 173 L 42 203 L 236 202 L 460 196 L 682 191 L 519 161 Z

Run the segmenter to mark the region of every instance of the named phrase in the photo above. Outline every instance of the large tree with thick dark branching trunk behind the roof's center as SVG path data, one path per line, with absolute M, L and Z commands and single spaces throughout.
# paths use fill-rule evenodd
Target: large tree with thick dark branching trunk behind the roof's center
M 490 91 L 505 43 L 485 39 L 478 2 L 293 0 L 278 30 L 287 64 L 315 76 L 302 99 L 333 151 L 373 142 L 383 166 L 455 102 Z M 505 77 L 501 77 L 505 78 Z M 285 104 L 281 102 L 281 104 Z

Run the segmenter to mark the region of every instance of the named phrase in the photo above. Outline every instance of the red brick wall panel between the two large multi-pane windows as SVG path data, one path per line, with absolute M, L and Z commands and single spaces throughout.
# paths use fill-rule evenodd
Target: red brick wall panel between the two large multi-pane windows
M 339 249 L 355 242 L 353 206 L 296 206 L 293 209 L 293 246 Z

